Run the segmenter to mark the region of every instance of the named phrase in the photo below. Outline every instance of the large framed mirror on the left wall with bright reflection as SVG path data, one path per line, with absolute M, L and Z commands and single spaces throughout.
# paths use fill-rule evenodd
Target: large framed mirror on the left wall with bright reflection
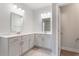
M 23 16 L 11 13 L 11 32 L 20 33 L 23 27 Z

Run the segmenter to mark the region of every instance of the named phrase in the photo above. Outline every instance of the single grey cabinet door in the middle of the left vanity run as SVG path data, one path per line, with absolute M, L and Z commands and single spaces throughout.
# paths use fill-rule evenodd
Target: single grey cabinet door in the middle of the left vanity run
M 29 50 L 28 35 L 22 37 L 22 54 Z

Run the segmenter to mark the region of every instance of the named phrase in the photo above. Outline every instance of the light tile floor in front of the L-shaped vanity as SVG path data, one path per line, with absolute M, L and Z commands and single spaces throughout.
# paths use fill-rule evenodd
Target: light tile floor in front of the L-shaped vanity
M 50 50 L 42 48 L 33 48 L 28 51 L 24 56 L 51 56 L 52 53 Z

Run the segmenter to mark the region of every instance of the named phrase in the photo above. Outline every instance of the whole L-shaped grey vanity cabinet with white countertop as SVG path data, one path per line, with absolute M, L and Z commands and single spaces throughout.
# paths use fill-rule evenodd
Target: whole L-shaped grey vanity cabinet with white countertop
M 51 49 L 50 34 L 26 34 L 0 37 L 1 56 L 20 56 L 34 46 Z

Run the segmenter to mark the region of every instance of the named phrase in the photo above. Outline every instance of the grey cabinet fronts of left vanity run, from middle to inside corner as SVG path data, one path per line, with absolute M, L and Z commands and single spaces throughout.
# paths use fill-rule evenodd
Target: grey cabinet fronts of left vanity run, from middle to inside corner
M 22 53 L 28 51 L 34 46 L 33 34 L 25 35 L 22 37 Z

